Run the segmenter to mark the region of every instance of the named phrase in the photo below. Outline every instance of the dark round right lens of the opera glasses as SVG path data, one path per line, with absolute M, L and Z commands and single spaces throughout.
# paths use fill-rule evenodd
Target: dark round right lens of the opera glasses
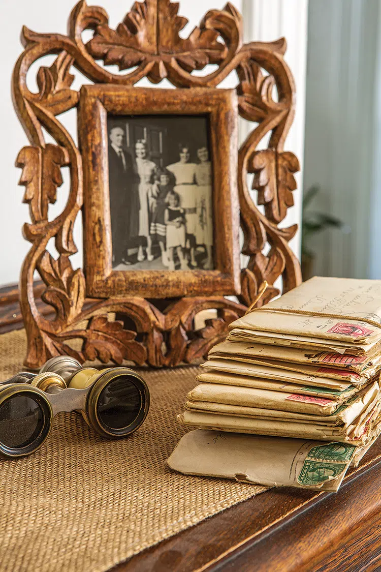
M 122 429 L 133 423 L 141 408 L 141 392 L 133 383 L 132 376 L 121 375 L 99 395 L 97 412 L 101 423 L 111 429 Z

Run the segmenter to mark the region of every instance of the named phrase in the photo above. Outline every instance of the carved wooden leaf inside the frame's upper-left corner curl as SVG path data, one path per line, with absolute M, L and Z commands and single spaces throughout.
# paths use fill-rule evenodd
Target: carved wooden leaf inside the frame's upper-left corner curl
M 74 107 L 79 101 L 79 93 L 70 89 L 74 81 L 69 73 L 73 61 L 74 58 L 62 50 L 50 67 L 41 66 L 38 70 L 38 101 L 55 115 Z

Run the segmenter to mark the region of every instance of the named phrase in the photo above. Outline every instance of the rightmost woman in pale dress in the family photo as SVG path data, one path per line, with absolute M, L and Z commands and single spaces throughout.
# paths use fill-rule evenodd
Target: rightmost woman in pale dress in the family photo
M 198 185 L 196 193 L 196 215 L 198 224 L 196 225 L 196 243 L 203 244 L 206 248 L 207 260 L 205 269 L 212 268 L 212 245 L 213 245 L 213 223 L 212 223 L 212 169 L 209 161 L 209 154 L 206 147 L 197 150 L 199 164 L 196 165 L 195 178 Z

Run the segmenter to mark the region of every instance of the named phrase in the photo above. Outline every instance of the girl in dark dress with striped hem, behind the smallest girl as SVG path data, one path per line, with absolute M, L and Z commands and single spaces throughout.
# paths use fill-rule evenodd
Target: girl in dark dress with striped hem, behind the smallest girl
M 173 190 L 170 185 L 170 173 L 166 169 L 158 169 L 159 184 L 157 185 L 157 197 L 154 201 L 150 234 L 153 240 L 157 240 L 162 255 L 163 266 L 168 266 L 169 260 L 166 250 L 167 227 L 164 214 L 168 206 L 168 195 Z

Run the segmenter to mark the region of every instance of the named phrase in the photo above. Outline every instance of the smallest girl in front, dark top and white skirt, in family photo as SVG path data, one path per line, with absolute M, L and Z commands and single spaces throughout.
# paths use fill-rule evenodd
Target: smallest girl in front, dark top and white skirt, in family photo
M 188 270 L 189 267 L 184 258 L 183 248 L 185 248 L 185 212 L 180 204 L 179 194 L 174 190 L 168 194 L 169 206 L 164 213 L 164 220 L 167 227 L 167 252 L 169 270 L 175 269 L 174 252 L 176 249 L 180 261 L 180 268 Z

